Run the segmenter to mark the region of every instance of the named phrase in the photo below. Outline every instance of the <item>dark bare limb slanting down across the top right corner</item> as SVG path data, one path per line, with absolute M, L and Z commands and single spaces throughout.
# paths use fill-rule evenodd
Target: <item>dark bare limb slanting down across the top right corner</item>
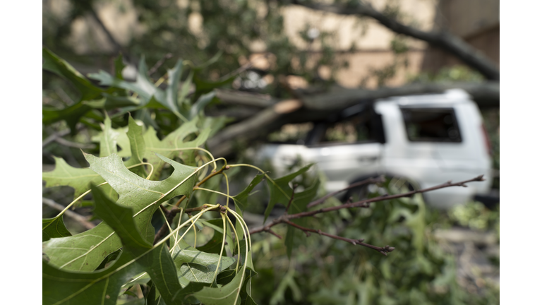
M 379 11 L 376 11 L 371 6 L 366 4 L 357 3 L 355 6 L 341 6 L 338 4 L 315 4 L 300 2 L 297 0 L 291 1 L 292 4 L 299 6 L 305 6 L 318 11 L 327 11 L 330 13 L 336 13 L 339 15 L 357 15 L 371 17 L 377 20 L 380 24 L 386 28 L 402 35 L 414 37 L 418 40 L 423 40 L 432 44 L 435 47 L 454 54 L 457 58 L 464 61 L 465 64 L 471 66 L 471 68 L 479 71 L 488 80 L 499 80 L 500 72 L 497 65 L 493 63 L 487 56 L 480 51 L 471 47 L 470 44 L 464 42 L 461 38 L 452 35 L 450 32 L 425 32 L 416 28 L 409 27 L 394 18 L 390 18 Z

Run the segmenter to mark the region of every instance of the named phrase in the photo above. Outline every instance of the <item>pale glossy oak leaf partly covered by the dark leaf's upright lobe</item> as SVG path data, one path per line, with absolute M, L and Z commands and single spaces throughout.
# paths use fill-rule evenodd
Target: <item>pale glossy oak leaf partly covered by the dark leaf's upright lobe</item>
M 134 214 L 139 213 L 134 217 L 135 224 L 149 241 L 152 241 L 155 234 L 150 220 L 159 204 L 174 196 L 190 195 L 197 179 L 197 175 L 193 174 L 195 167 L 159 157 L 174 167 L 174 172 L 163 181 L 150 181 L 126 169 L 118 155 L 99 158 L 85 154 L 90 169 L 100 174 L 119 193 L 117 203 L 131 208 Z M 193 175 L 188 178 L 191 174 Z M 185 179 L 186 181 L 178 186 Z M 51 258 L 50 263 L 53 265 L 64 270 L 85 271 L 95 270 L 109 253 L 120 247 L 119 237 L 111 227 L 102 222 L 73 237 L 50 239 L 44 242 L 43 251 Z

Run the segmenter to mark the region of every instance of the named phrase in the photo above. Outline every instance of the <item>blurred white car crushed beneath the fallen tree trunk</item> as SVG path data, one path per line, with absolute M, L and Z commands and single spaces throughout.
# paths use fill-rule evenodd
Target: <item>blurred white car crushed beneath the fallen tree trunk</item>
M 339 118 L 312 126 L 306 140 L 266 144 L 258 159 L 270 159 L 279 174 L 299 157 L 315 162 L 327 177 L 329 192 L 380 174 L 401 177 L 421 189 L 484 175 L 486 181 L 466 188 L 424 193 L 435 208 L 450 208 L 490 191 L 490 143 L 480 111 L 464 90 L 360 103 Z

